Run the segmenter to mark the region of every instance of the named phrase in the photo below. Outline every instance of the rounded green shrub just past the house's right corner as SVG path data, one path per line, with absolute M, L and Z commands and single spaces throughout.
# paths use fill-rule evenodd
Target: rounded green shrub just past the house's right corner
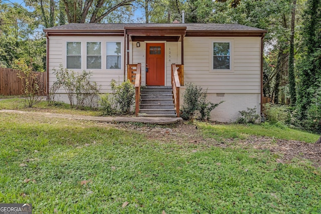
M 286 120 L 288 119 L 287 106 L 265 103 L 264 109 L 266 119 L 271 124 L 286 123 Z

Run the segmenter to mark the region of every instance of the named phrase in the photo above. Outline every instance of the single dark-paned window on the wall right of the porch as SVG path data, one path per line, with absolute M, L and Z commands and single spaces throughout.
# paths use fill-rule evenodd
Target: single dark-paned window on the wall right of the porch
M 213 70 L 231 69 L 231 43 L 213 42 Z

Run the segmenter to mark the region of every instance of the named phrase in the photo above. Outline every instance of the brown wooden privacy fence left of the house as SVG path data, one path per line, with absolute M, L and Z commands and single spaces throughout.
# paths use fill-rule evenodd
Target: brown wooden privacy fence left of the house
M 23 82 L 17 76 L 18 70 L 11 68 L 0 68 L 0 95 L 22 95 Z M 40 94 L 46 94 L 46 72 L 37 72 L 40 83 Z

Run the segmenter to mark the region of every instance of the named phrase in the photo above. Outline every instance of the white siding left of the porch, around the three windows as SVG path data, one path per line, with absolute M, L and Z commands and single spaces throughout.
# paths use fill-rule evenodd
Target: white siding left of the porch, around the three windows
M 110 81 L 115 79 L 117 82 L 124 80 L 124 38 L 123 37 L 49 37 L 49 87 L 56 81 L 53 69 L 59 69 L 60 65 L 66 68 L 66 44 L 67 42 L 81 42 L 81 69 L 70 69 L 81 73 L 83 70 L 91 71 L 91 81 L 95 81 L 100 86 L 101 92 L 105 93 L 110 89 Z M 101 42 L 101 69 L 86 68 L 86 42 Z M 121 42 L 121 69 L 106 69 L 106 42 Z M 68 101 L 64 90 L 59 90 L 58 100 Z

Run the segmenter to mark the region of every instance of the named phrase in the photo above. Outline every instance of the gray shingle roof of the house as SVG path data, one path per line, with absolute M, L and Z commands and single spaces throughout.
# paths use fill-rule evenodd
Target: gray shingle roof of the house
M 238 24 L 197 24 L 197 23 L 186 23 L 186 24 L 138 24 L 138 23 L 121 23 L 121 24 L 77 24 L 71 23 L 62 26 L 56 26 L 53 28 L 47 28 L 44 31 L 123 31 L 125 27 L 159 27 L 159 28 L 175 28 L 175 27 L 186 27 L 187 31 L 255 31 L 255 32 L 266 32 L 259 28 L 248 27 Z

